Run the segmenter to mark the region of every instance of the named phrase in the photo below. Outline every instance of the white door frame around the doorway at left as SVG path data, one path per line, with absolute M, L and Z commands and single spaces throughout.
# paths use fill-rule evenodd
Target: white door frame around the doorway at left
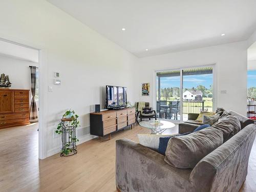
M 0 34 L 0 40 L 11 44 L 35 49 L 38 51 L 38 81 L 39 81 L 39 116 L 38 116 L 38 158 L 45 159 L 47 157 L 47 49 L 43 46 L 36 45 L 33 42 L 20 39 L 13 36 Z

